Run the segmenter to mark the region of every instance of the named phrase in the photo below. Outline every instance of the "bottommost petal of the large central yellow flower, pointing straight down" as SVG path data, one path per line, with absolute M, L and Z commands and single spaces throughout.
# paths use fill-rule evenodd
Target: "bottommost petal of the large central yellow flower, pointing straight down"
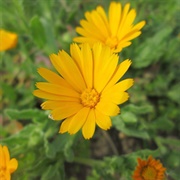
M 82 133 L 85 139 L 90 139 L 93 136 L 96 126 L 95 123 L 96 119 L 94 109 L 91 109 L 87 117 L 87 120 L 82 127 Z

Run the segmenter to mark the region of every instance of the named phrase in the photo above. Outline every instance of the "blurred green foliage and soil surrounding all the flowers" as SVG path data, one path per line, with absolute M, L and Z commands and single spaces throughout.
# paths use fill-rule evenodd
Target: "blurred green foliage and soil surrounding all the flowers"
M 180 1 L 121 0 L 146 20 L 140 37 L 120 53 L 132 59 L 135 79 L 130 100 L 113 117 L 109 131 L 96 128 L 84 140 L 58 134 L 32 95 L 42 80 L 38 67 L 52 69 L 48 56 L 69 52 L 75 27 L 84 12 L 110 0 L 0 1 L 0 27 L 19 36 L 16 48 L 0 53 L 0 141 L 19 161 L 13 180 L 129 180 L 137 157 L 153 155 L 167 168 L 167 179 L 180 179 Z M 73 72 L 72 72 L 73 74 Z

